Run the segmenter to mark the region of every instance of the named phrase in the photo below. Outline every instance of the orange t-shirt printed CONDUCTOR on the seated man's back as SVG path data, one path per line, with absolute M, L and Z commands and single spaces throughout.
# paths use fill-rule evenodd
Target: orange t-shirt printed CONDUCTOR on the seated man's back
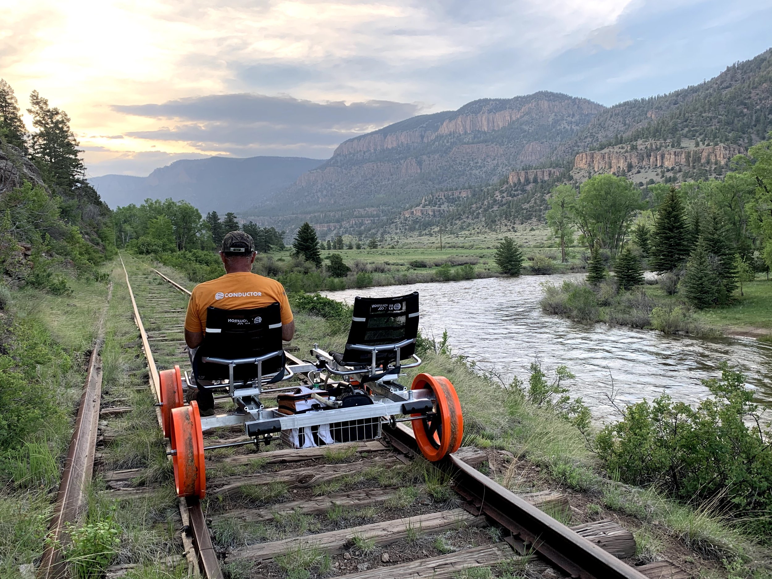
M 256 273 L 226 273 L 212 281 L 199 283 L 193 288 L 185 314 L 185 330 L 203 332 L 206 328 L 206 309 L 215 306 L 221 310 L 249 310 L 279 302 L 282 323 L 293 320 L 292 310 L 284 286 L 276 279 Z

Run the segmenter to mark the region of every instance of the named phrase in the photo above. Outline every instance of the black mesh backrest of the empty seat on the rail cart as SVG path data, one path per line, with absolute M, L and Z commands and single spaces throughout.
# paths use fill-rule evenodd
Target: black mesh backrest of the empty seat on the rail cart
M 353 350 L 351 344 L 362 346 L 381 346 L 398 344 L 403 340 L 418 336 L 418 292 L 396 297 L 357 297 L 354 298 L 354 315 L 346 341 L 343 363 L 370 364 L 372 354 Z M 400 351 L 400 357 L 411 357 L 415 353 L 415 344 L 410 344 Z M 378 352 L 378 364 L 398 362 L 394 350 Z

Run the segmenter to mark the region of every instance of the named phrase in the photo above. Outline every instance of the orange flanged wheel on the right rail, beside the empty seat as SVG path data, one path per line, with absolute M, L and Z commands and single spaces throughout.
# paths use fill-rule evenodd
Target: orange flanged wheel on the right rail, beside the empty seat
M 453 384 L 444 376 L 418 374 L 413 380 L 413 390 L 431 388 L 435 394 L 432 416 L 414 420 L 415 442 L 426 459 L 436 462 L 455 452 L 461 446 L 464 434 L 464 418 L 461 403 Z M 413 416 L 421 416 L 414 414 Z

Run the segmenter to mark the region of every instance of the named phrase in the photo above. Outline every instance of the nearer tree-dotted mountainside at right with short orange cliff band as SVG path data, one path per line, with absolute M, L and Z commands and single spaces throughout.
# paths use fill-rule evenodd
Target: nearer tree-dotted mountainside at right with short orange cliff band
M 639 187 L 721 177 L 731 170 L 732 157 L 768 138 L 770 129 L 772 49 L 705 83 L 608 107 L 558 144 L 540 169 L 511 171 L 506 181 L 472 187 L 465 195 L 426 195 L 370 226 L 394 235 L 439 225 L 506 230 L 543 220 L 546 197 L 561 182 L 579 185 L 599 173 L 624 175 Z

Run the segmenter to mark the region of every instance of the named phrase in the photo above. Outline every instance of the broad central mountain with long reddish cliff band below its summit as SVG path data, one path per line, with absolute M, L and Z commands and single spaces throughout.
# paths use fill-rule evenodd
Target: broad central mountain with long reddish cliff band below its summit
M 290 229 L 306 219 L 364 224 L 432 191 L 493 181 L 512 168 L 538 164 L 604 108 L 540 92 L 413 117 L 345 141 L 280 198 L 242 215 Z

